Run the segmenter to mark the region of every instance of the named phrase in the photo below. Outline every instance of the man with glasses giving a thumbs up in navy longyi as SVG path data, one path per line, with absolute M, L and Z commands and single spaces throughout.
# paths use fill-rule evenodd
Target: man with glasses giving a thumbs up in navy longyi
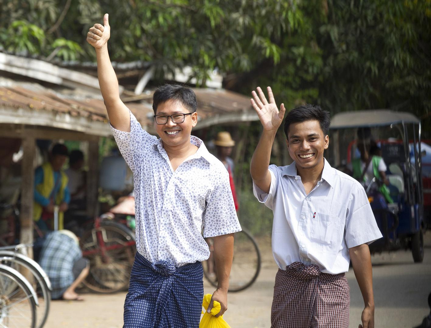
M 219 284 L 212 301 L 221 303 L 219 315 L 227 309 L 233 233 L 241 229 L 228 172 L 202 140 L 191 136 L 197 124 L 197 102 L 190 88 L 166 84 L 155 91 L 154 123 L 160 139 L 141 128 L 120 100 L 107 49 L 107 14 L 103 23 L 90 28 L 87 41 L 96 49 L 112 133 L 134 173 L 137 253 L 124 305 L 124 327 L 198 327 L 201 262 L 209 257 L 204 237 L 214 237 Z M 208 311 L 211 308 L 212 302 Z

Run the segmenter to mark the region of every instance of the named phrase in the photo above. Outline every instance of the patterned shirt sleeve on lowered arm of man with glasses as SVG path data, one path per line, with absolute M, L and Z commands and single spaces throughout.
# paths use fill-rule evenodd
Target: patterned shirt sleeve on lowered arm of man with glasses
M 214 181 L 216 185 L 207 199 L 204 215 L 204 238 L 241 231 L 228 171 L 220 170 Z

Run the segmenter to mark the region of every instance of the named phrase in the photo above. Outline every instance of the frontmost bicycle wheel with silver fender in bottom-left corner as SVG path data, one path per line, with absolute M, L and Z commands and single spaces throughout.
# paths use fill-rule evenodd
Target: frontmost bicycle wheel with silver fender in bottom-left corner
M 0 326 L 36 327 L 36 295 L 16 270 L 0 264 Z

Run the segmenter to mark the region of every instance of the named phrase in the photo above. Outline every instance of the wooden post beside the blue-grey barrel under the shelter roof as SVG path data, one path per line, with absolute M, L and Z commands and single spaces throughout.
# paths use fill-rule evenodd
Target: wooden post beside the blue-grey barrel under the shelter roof
M 99 140 L 88 142 L 87 172 L 87 215 L 96 217 L 99 213 Z

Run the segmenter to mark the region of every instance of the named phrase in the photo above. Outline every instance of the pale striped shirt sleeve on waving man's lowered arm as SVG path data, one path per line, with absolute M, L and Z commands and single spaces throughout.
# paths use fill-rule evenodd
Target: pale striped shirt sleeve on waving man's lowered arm
M 348 248 L 371 244 L 382 238 L 368 197 L 362 186 L 354 185 L 347 207 L 345 240 Z

